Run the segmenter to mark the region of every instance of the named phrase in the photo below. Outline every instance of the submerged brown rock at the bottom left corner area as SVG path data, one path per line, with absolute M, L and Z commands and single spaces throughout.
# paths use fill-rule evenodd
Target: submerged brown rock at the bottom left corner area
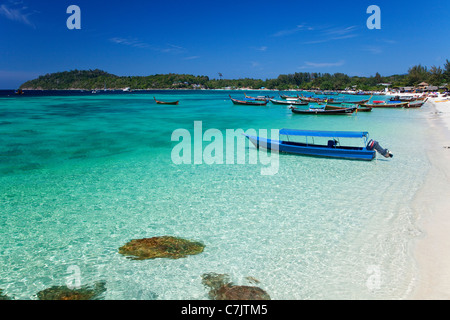
M 83 286 L 79 289 L 69 289 L 67 286 L 54 286 L 39 291 L 39 300 L 97 300 L 106 291 L 106 283 L 100 281 L 94 286 Z

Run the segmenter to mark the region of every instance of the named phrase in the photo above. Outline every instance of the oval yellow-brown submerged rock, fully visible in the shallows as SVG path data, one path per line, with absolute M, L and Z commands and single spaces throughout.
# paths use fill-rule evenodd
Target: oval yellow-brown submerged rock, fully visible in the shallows
M 133 260 L 155 258 L 179 259 L 187 255 L 203 252 L 205 245 L 200 242 L 163 236 L 131 240 L 119 248 L 119 253 L 131 256 Z

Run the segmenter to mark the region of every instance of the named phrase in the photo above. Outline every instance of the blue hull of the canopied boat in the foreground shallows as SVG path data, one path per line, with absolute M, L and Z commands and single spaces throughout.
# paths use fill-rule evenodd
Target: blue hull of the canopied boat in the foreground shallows
M 246 137 L 256 148 L 278 151 L 280 153 L 363 161 L 372 161 L 376 157 L 376 152 L 374 150 L 367 150 L 366 148 L 332 148 L 326 146 L 305 145 L 289 141 L 271 140 L 248 135 L 246 135 Z

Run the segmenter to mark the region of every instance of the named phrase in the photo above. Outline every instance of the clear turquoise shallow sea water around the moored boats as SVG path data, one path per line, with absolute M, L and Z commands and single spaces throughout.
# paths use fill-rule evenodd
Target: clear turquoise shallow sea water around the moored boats
M 207 299 L 201 275 L 260 281 L 272 299 L 402 298 L 414 285 L 411 200 L 429 162 L 428 109 L 293 115 L 234 106 L 224 91 L 0 99 L 0 289 L 17 299 L 106 281 L 106 299 Z M 240 98 L 242 92 L 231 92 Z M 256 95 L 254 93 L 253 95 Z M 369 131 L 394 153 L 373 162 L 279 156 L 261 164 L 176 165 L 172 132 Z M 131 239 L 172 235 L 205 251 L 133 261 Z

